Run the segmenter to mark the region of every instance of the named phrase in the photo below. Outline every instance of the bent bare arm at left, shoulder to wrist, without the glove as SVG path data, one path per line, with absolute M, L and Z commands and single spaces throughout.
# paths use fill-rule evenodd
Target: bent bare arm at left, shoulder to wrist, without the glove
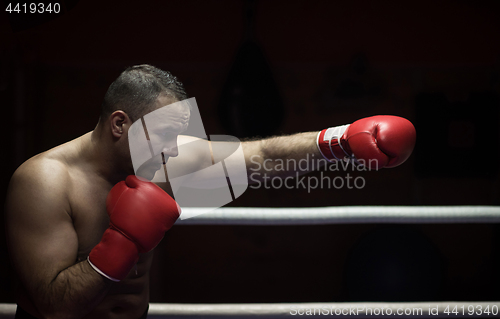
M 80 318 L 105 297 L 111 282 L 87 261 L 76 263 L 67 170 L 54 160 L 31 161 L 14 173 L 7 194 L 11 260 L 41 316 Z

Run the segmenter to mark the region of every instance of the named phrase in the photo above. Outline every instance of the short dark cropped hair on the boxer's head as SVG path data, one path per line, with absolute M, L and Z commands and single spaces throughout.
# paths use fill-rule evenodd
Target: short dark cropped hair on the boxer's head
M 102 102 L 101 119 L 122 110 L 134 122 L 152 111 L 160 94 L 178 101 L 188 97 L 182 82 L 170 72 L 148 64 L 131 66 L 109 86 Z

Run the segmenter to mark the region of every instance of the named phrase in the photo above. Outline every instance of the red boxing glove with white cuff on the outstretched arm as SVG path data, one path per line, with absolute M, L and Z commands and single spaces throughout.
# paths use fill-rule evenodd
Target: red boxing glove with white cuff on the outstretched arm
M 319 132 L 317 144 L 329 161 L 352 159 L 370 169 L 379 169 L 404 163 L 415 147 L 415 140 L 415 127 L 410 121 L 378 115 L 325 129 Z

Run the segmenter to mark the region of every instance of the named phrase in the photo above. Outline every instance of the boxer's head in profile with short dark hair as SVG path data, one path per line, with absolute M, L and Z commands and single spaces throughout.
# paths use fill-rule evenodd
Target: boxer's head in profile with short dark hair
M 130 158 L 128 130 L 134 122 L 141 122 L 144 116 L 154 113 L 153 111 L 163 107 L 169 108 L 167 118 L 162 116 L 163 121 L 172 122 L 181 115 L 176 112 L 181 112 L 182 116 L 188 116 L 189 109 L 169 105 L 187 99 L 187 94 L 182 83 L 177 80 L 171 73 L 155 68 L 151 65 L 137 65 L 127 68 L 120 76 L 110 85 L 104 101 L 102 103 L 101 117 L 99 124 L 96 127 L 99 136 L 104 137 L 108 141 L 112 141 L 112 146 L 107 148 L 107 151 L 112 152 L 114 157 L 119 162 L 117 169 L 125 170 L 128 174 L 133 174 L 132 163 Z M 174 112 L 175 111 L 175 112 Z M 187 113 L 186 113 L 187 112 Z M 165 111 L 155 114 L 163 114 Z M 165 130 L 170 130 L 172 133 L 179 133 L 181 130 L 171 130 L 170 127 L 161 123 L 161 127 Z M 183 123 L 184 124 L 184 123 Z M 160 126 L 160 125 L 157 125 Z M 109 134 L 108 134 L 109 133 Z M 155 134 L 166 134 L 154 130 L 151 132 L 151 138 Z M 170 136 L 165 135 L 165 136 Z M 108 139 L 109 138 L 109 139 Z M 173 146 L 173 138 L 165 140 L 165 150 L 163 151 L 165 160 L 170 156 L 176 156 L 176 145 Z M 162 158 L 155 156 L 153 163 L 157 167 L 158 162 L 162 162 Z

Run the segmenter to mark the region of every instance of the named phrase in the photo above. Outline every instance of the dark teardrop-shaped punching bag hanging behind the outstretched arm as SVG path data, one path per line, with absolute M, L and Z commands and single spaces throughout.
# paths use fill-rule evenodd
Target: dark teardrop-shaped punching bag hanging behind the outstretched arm
M 284 107 L 271 68 L 254 36 L 255 1 L 247 0 L 246 35 L 224 85 L 218 113 L 228 134 L 239 138 L 275 134 Z

